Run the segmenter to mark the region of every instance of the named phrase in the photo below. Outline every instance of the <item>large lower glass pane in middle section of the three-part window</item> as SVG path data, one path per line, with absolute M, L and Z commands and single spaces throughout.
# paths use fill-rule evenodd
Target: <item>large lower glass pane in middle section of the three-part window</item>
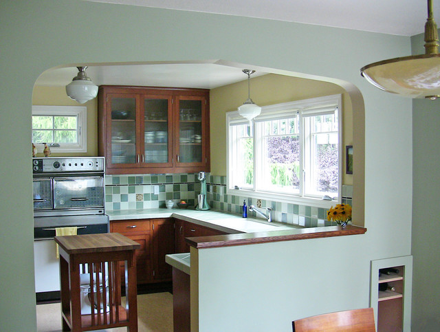
M 299 137 L 266 136 L 264 154 L 264 189 L 298 192 L 300 186 Z

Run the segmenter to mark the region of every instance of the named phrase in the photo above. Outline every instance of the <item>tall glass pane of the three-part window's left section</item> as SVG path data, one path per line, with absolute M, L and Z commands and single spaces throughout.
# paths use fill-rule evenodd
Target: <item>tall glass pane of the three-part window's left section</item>
M 230 137 L 232 185 L 250 188 L 254 184 L 254 140 L 250 136 L 250 126 L 248 124 L 231 126 Z

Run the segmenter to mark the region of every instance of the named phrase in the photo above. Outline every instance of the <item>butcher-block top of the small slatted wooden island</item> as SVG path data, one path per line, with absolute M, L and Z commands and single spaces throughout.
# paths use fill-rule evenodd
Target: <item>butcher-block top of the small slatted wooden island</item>
M 98 253 L 140 248 L 140 244 L 119 233 L 55 236 L 55 242 L 66 253 Z

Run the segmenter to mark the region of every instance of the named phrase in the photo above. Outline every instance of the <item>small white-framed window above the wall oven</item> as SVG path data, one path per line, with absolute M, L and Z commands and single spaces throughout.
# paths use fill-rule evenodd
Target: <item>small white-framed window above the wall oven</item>
M 87 107 L 32 106 L 32 143 L 52 152 L 87 152 Z

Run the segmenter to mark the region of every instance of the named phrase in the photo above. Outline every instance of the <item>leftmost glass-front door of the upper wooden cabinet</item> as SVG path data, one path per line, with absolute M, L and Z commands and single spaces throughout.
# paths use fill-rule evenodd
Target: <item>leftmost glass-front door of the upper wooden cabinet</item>
M 136 95 L 110 94 L 107 98 L 111 128 L 111 141 L 107 147 L 111 164 L 135 164 L 139 158 L 136 151 Z

